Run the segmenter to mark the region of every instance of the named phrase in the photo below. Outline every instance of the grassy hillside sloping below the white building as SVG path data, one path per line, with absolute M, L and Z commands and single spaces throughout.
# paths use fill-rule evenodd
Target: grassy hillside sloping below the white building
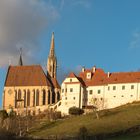
M 48 135 L 76 136 L 81 127 L 86 127 L 89 135 L 116 135 L 120 133 L 125 134 L 127 139 L 128 136 L 140 139 L 140 102 L 100 111 L 99 116 L 100 119 L 96 119 L 95 114 L 91 113 L 53 122 L 43 119 L 40 124 L 35 125 L 30 130 L 30 135 L 38 137 Z M 124 139 L 124 136 L 118 138 L 121 140 L 121 137 Z M 115 140 L 115 138 L 111 139 Z

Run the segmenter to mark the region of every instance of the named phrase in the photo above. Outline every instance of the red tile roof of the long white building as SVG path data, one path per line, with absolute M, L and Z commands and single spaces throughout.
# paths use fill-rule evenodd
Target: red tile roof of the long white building
M 91 79 L 87 78 L 87 73 L 91 73 Z M 74 74 L 71 73 L 69 77 L 73 75 Z M 85 86 L 140 82 L 140 72 L 110 73 L 108 77 L 108 74 L 100 68 L 96 68 L 95 72 L 93 72 L 93 69 L 85 69 L 84 72 L 80 72 L 76 77 L 80 79 L 79 81 Z

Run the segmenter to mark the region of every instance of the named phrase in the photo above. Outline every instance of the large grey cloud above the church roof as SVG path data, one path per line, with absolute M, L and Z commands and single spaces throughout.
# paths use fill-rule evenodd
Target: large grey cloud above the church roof
M 17 64 L 20 47 L 25 62 L 34 60 L 38 36 L 58 18 L 57 8 L 47 1 L 0 0 L 0 65 L 7 65 L 9 57 Z

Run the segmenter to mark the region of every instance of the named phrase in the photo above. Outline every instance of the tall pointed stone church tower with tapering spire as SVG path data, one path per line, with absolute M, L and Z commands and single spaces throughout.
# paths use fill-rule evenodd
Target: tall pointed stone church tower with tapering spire
M 56 78 L 57 58 L 55 56 L 54 32 L 52 33 L 50 53 L 47 62 L 47 75 L 50 78 Z

